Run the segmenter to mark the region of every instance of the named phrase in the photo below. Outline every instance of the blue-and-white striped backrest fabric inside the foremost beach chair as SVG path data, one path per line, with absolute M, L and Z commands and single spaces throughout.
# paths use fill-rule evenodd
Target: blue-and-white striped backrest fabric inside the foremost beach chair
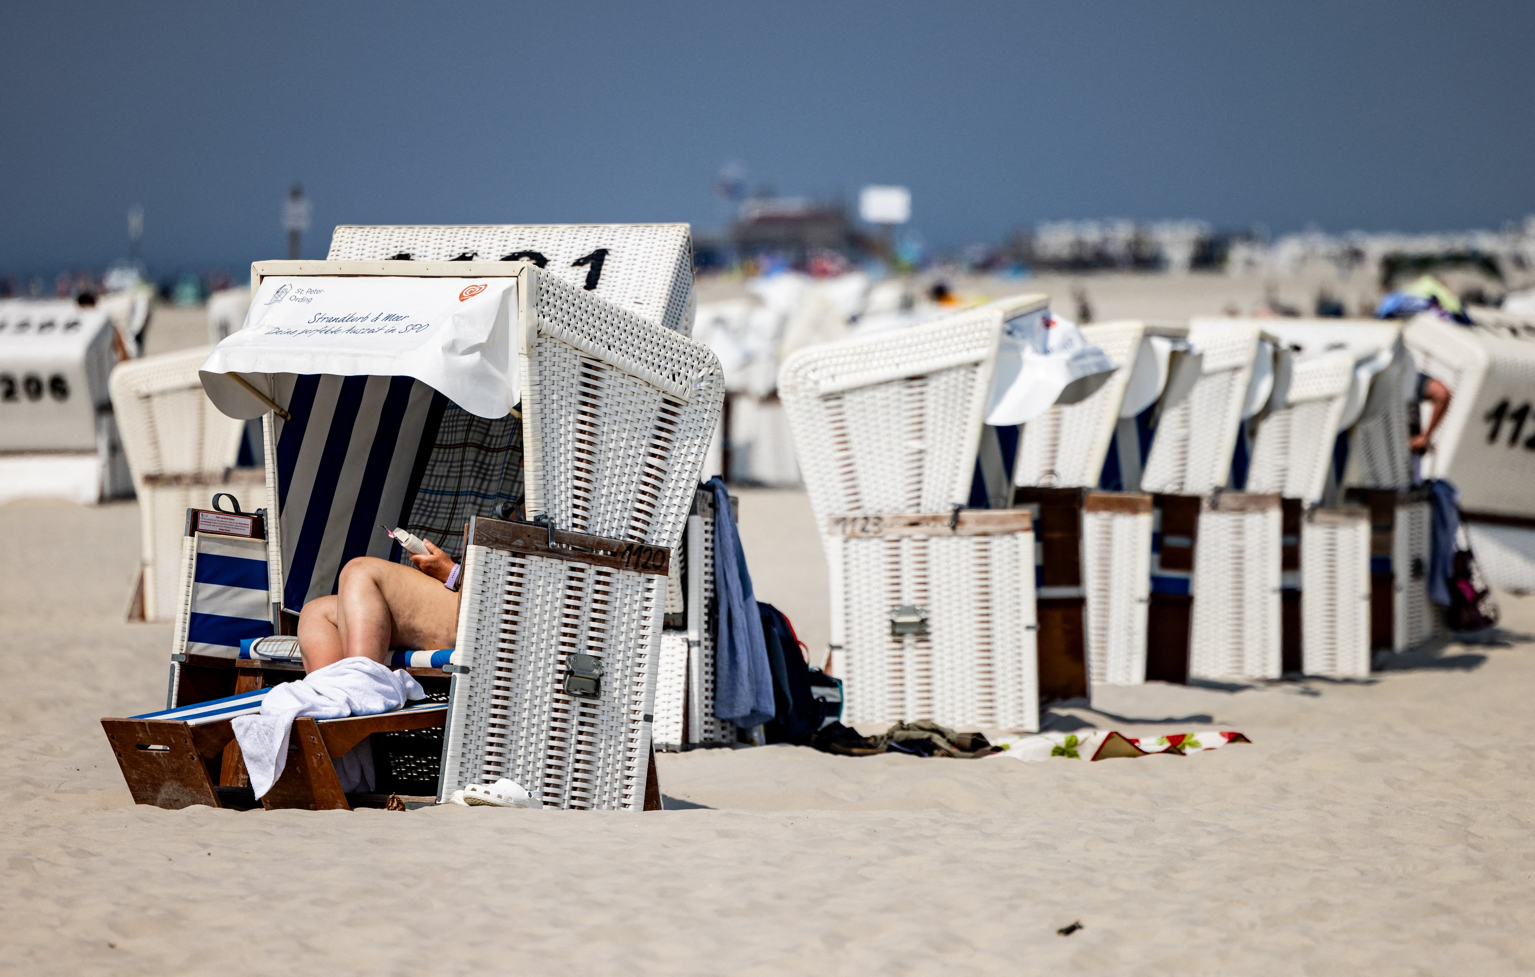
M 447 399 L 411 377 L 279 374 L 276 423 L 282 604 L 336 592 L 353 557 L 390 558 Z M 424 449 L 425 440 L 425 449 Z

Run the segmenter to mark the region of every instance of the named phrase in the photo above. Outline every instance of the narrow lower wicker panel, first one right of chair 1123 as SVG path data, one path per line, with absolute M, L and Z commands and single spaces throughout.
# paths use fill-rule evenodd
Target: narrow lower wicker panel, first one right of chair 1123
M 1093 683 L 1145 683 L 1151 521 L 1151 512 L 1082 514 L 1087 664 Z

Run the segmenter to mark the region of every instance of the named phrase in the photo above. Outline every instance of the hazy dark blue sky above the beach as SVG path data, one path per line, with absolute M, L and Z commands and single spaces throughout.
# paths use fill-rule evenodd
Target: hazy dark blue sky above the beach
M 1535 212 L 1535 5 L 23 3 L 0 271 L 152 270 L 335 224 L 688 221 L 712 190 L 912 189 L 936 247 L 1048 219 L 1279 233 Z

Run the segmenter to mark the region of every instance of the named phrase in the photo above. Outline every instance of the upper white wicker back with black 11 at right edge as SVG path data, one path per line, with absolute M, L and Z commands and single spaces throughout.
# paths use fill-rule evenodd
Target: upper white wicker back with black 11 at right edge
M 1426 474 L 1454 482 L 1464 509 L 1535 515 L 1535 339 L 1418 317 L 1406 342 L 1454 394 Z

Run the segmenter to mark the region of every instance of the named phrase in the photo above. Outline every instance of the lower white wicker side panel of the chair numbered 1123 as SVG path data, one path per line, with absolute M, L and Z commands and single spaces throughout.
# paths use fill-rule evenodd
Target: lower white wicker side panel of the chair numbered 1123
M 843 721 L 1039 729 L 1033 532 L 843 538 Z M 890 610 L 927 612 L 892 635 Z

